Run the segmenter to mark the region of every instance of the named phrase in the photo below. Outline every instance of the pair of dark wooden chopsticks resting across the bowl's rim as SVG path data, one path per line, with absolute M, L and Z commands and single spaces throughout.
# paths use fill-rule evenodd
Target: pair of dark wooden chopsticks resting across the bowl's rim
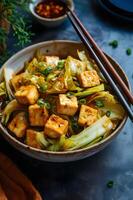
M 85 29 L 75 12 L 72 11 L 64 1 L 62 2 L 66 6 L 66 14 L 71 21 L 73 27 L 75 28 L 77 34 L 79 35 L 83 44 L 86 46 L 86 49 L 91 53 L 91 56 L 97 63 L 102 74 L 111 85 L 119 101 L 127 111 L 128 116 L 133 121 L 133 111 L 130 107 L 130 104 L 133 104 L 133 96 L 130 93 L 128 87 L 118 75 L 117 71 L 109 62 L 103 51 L 96 44 L 90 33 Z

